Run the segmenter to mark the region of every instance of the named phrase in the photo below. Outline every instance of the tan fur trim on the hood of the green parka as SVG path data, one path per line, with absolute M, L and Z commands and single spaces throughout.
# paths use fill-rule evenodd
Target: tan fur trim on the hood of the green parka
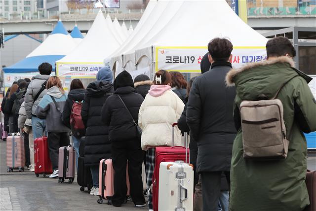
M 252 69 L 252 68 L 257 68 L 257 67 L 260 67 L 260 66 L 267 66 L 267 65 L 273 65 L 273 64 L 276 64 L 276 63 L 288 63 L 292 68 L 295 68 L 295 63 L 294 61 L 287 57 L 287 56 L 280 56 L 280 57 L 277 57 L 276 59 L 273 59 L 273 60 L 265 60 L 265 61 L 262 61 L 262 62 L 254 62 L 254 63 L 249 63 L 249 64 L 246 64 L 244 65 L 243 67 L 239 68 L 239 69 L 232 69 L 230 70 L 227 75 L 226 75 L 226 84 L 227 86 L 234 86 L 235 83 L 234 83 L 234 77 L 244 71 L 244 70 L 249 70 L 249 69 Z

